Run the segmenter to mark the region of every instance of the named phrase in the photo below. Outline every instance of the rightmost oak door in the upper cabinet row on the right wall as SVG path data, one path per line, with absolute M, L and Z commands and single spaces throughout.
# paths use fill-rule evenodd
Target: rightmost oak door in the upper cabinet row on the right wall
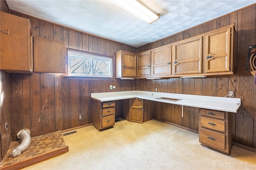
M 230 71 L 232 28 L 206 34 L 205 72 Z

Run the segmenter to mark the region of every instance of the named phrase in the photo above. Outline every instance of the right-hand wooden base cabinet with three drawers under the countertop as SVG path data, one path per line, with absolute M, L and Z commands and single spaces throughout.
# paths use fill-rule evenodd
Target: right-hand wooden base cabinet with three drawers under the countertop
M 232 113 L 201 109 L 199 142 L 201 145 L 229 155 L 232 147 Z

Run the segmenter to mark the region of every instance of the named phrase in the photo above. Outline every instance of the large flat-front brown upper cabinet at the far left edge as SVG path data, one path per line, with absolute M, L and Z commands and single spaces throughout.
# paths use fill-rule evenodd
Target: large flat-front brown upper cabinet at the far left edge
M 26 18 L 1 12 L 1 70 L 15 73 L 32 73 L 32 32 Z

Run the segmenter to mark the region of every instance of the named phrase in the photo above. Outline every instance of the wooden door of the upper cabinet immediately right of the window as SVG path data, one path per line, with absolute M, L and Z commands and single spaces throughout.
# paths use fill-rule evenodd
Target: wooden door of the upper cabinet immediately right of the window
M 136 77 L 136 55 L 122 52 L 122 76 Z

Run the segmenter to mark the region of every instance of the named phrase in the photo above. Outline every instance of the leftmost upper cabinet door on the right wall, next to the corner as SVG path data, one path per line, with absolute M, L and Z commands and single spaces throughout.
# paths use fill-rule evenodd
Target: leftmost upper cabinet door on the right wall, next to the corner
M 150 76 L 151 51 L 137 55 L 137 77 Z

